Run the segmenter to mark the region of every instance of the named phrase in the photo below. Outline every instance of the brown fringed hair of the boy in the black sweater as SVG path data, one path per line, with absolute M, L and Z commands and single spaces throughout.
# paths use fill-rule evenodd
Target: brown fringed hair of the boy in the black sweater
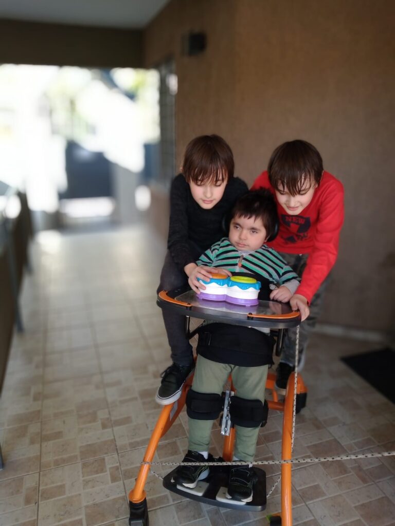
M 233 153 L 219 135 L 201 135 L 185 149 L 182 173 L 187 183 L 228 182 L 234 174 Z

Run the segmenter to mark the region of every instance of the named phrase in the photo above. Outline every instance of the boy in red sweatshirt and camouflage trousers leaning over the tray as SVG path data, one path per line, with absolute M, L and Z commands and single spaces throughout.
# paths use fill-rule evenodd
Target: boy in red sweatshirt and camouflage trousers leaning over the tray
M 290 300 L 294 310 L 310 306 L 310 316 L 300 327 L 300 361 L 311 330 L 321 312 L 328 275 L 338 255 L 343 225 L 343 185 L 324 171 L 322 158 L 313 145 L 292 140 L 273 151 L 268 170 L 256 178 L 251 189 L 269 188 L 275 196 L 280 219 L 278 236 L 268 245 L 287 261 L 301 277 Z M 278 290 L 272 299 L 281 300 Z M 295 369 L 296 329 L 288 330 L 281 361 L 277 368 L 276 388 L 285 393 L 287 381 Z

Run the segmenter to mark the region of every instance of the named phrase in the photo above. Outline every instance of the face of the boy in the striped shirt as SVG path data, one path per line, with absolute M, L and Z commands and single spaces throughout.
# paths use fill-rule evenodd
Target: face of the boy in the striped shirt
M 268 238 L 260 217 L 235 216 L 229 228 L 229 241 L 238 250 L 258 250 Z

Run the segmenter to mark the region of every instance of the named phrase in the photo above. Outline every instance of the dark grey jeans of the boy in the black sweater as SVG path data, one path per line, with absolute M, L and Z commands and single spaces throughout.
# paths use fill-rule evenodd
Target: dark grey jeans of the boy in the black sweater
M 192 243 L 189 244 L 192 257 L 199 259 L 204 250 Z M 177 267 L 168 251 L 164 260 L 161 282 L 157 288 L 157 293 L 161 290 L 172 290 L 186 285 L 188 277 L 184 269 Z M 193 360 L 192 346 L 185 336 L 185 316 L 173 312 L 170 309 L 162 309 L 162 316 L 167 332 L 167 340 L 171 349 L 171 359 L 177 365 L 189 365 Z

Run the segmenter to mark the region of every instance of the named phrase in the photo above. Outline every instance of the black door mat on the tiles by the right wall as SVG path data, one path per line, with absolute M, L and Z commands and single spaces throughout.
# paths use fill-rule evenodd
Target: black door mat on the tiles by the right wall
M 395 403 L 395 351 L 386 348 L 345 356 L 341 360 Z

